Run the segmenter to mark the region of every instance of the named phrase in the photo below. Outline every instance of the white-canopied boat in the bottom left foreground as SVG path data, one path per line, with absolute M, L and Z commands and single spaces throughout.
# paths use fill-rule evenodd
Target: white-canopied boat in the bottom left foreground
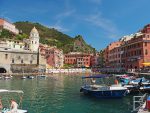
M 3 98 L 3 96 L 7 96 L 8 97 L 8 95 L 11 95 L 11 99 L 12 99 L 12 95 L 13 94 L 16 94 L 16 96 L 18 97 L 19 96 L 19 98 L 20 98 L 20 101 L 19 101 L 19 105 L 21 105 L 21 102 L 22 102 L 22 97 L 23 97 L 23 91 L 22 90 L 7 90 L 7 89 L 0 89 L 0 95 L 1 95 L 1 97 Z M 3 104 L 2 104 L 2 102 L 3 102 L 3 99 L 0 99 L 0 105 L 1 106 L 4 106 Z M 10 100 L 11 100 L 10 99 Z M 14 97 L 13 97 L 13 99 L 14 99 Z M 7 103 L 7 102 L 9 102 L 8 101 L 8 98 L 5 100 L 5 107 L 2 107 L 2 109 L 0 110 L 0 113 L 13 113 L 13 112 L 11 112 L 11 109 L 10 109 L 10 105 L 9 105 L 9 103 Z M 21 106 L 19 106 L 20 108 L 21 108 Z M 16 112 L 15 112 L 16 113 Z M 23 109 L 17 109 L 17 113 L 27 113 L 27 110 L 23 110 Z

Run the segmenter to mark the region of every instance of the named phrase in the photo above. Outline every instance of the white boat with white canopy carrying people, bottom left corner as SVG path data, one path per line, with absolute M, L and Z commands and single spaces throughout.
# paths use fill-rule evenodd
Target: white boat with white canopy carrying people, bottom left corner
M 10 93 L 17 93 L 17 96 L 20 96 L 20 99 L 22 98 L 23 96 L 23 91 L 22 90 L 7 90 L 7 89 L 0 89 L 0 93 L 6 93 L 5 95 L 7 94 L 10 94 Z M 4 96 L 5 96 L 4 95 Z M 22 99 L 21 99 L 22 100 Z M 20 102 L 21 102 L 20 100 Z M 7 102 L 8 100 L 6 100 Z M 8 103 L 8 106 L 5 106 L 5 108 L 3 108 L 0 113 L 10 113 L 10 105 Z M 22 109 L 17 109 L 17 113 L 27 113 L 27 110 L 22 110 Z

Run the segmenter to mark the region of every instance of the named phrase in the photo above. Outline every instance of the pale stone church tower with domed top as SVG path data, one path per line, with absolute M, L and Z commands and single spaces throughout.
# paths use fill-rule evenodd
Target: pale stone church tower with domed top
M 35 27 L 31 30 L 29 39 L 30 39 L 30 50 L 33 52 L 38 52 L 40 37 Z

